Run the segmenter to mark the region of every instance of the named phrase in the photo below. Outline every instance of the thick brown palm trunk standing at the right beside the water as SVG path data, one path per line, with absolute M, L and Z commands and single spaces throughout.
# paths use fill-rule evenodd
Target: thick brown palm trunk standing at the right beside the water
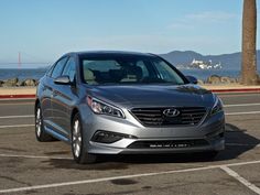
M 257 74 L 257 2 L 243 0 L 242 13 L 242 67 L 241 82 L 245 85 L 256 85 Z

